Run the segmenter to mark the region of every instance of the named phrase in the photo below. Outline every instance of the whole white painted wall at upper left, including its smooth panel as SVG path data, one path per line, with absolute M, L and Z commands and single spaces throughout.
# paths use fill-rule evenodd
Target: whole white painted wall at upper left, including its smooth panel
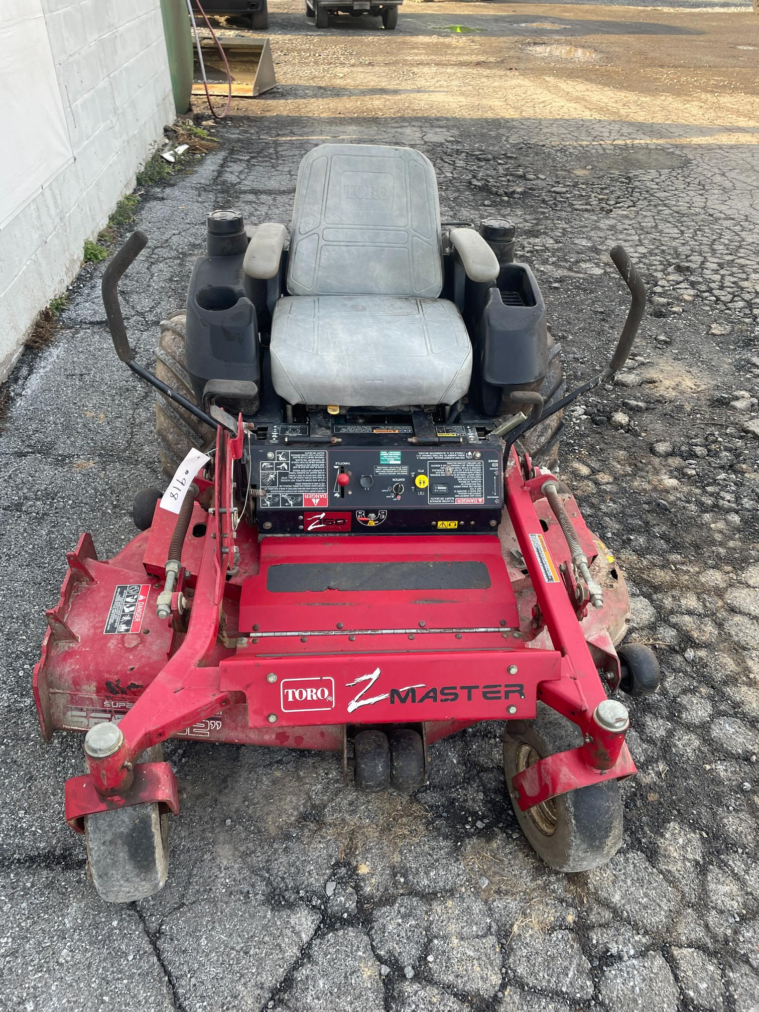
M 0 381 L 175 116 L 159 0 L 2 6 Z

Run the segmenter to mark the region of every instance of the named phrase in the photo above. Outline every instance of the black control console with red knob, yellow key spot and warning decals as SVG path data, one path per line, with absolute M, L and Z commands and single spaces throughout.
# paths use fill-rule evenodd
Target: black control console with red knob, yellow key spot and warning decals
M 247 462 L 262 533 L 483 532 L 503 510 L 501 449 L 475 426 L 274 425 Z

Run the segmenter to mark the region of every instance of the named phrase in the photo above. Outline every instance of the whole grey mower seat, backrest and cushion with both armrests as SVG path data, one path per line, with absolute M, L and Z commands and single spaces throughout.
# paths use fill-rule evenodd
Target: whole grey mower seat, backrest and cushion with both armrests
M 246 270 L 273 276 L 273 226 Z M 266 231 L 269 230 L 269 231 Z M 461 232 L 467 230 L 459 230 Z M 485 241 L 475 233 L 497 261 Z M 265 266 L 264 266 L 265 265 Z M 493 274 L 493 276 L 495 276 Z M 271 326 L 271 375 L 289 404 L 450 405 L 469 390 L 472 344 L 443 283 L 434 169 L 410 148 L 326 144 L 301 162 L 287 291 Z

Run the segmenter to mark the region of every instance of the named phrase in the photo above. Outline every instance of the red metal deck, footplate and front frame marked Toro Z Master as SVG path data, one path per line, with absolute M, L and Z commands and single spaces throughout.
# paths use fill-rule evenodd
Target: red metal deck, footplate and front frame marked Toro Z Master
M 512 452 L 508 520 L 498 534 L 419 535 L 390 544 L 371 536 L 315 536 L 306 544 L 270 537 L 259 546 L 255 528 L 234 531 L 231 522 L 231 466 L 241 440 L 220 429 L 217 445 L 217 468 L 226 463 L 229 475 L 217 482 L 213 515 L 193 508 L 182 554 L 181 586 L 191 601 L 186 631 L 175 619 L 155 617 L 163 581 L 151 560 L 161 549 L 165 557 L 175 514 L 158 506 L 151 531 L 112 560 L 97 560 L 88 534 L 68 556 L 34 670 L 43 729 L 50 737 L 57 729 L 87 731 L 109 721 L 123 735 L 114 755 L 88 757 L 89 776 L 68 781 L 66 818 L 73 828 L 81 832 L 88 815 L 124 804 L 160 802 L 176 812 L 167 763 L 143 767 L 151 775 L 139 783 L 128 768 L 166 738 L 341 750 L 346 726 L 413 724 L 424 726 L 431 743 L 483 720 L 531 720 L 538 699 L 577 724 L 585 743 L 520 774 L 514 787 L 522 810 L 636 771 L 624 744 L 627 723 L 610 729 L 597 713 L 606 699 L 597 668 L 606 665 L 618 680 L 611 641 L 606 636 L 599 646 L 597 630 L 623 628 L 626 591 L 609 578 L 604 609 L 578 620 L 561 576 L 569 549 L 553 514 L 546 519 L 540 493 L 549 476 L 536 469 L 525 480 Z M 574 500 L 565 502 L 593 563 L 599 546 Z M 227 580 L 224 547 L 233 534 L 239 572 Z M 511 536 L 527 580 L 504 558 Z M 380 570 L 403 565 L 422 575 L 430 566 L 469 564 L 480 585 L 426 593 L 267 587 L 278 568 L 325 562 Z M 520 583 L 525 590 L 517 593 Z M 124 591 L 140 597 L 141 613 L 129 631 L 111 631 L 114 599 L 118 604 Z M 538 646 L 543 624 L 550 645 Z

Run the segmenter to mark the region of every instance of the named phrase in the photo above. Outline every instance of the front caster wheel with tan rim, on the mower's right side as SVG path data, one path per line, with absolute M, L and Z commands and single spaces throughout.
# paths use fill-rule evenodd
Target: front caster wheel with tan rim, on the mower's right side
M 516 820 L 533 850 L 557 871 L 587 871 L 613 857 L 622 842 L 622 804 L 616 780 L 559 794 L 522 812 L 511 778 L 539 759 L 582 745 L 577 725 L 542 702 L 534 721 L 503 736 L 503 768 Z

